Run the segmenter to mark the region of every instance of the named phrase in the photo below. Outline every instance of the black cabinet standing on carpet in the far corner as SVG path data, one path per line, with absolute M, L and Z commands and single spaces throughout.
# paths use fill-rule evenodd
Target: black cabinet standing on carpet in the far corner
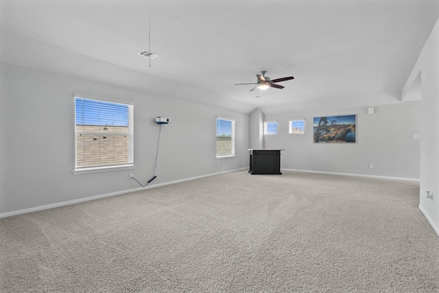
M 281 150 L 250 150 L 248 173 L 281 175 Z

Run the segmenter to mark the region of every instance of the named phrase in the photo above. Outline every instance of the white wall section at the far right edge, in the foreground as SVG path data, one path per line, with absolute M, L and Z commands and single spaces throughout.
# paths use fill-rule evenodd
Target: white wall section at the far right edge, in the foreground
M 416 85 L 419 74 L 422 99 L 419 208 L 439 234 L 439 20 L 407 80 L 403 97 Z M 434 198 L 426 198 L 426 191 L 433 193 Z

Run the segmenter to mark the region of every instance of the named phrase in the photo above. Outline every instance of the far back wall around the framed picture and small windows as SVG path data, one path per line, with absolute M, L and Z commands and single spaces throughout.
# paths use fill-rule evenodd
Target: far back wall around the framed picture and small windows
M 313 143 L 313 117 L 357 115 L 355 143 Z M 278 121 L 278 134 L 265 135 L 265 148 L 285 149 L 283 169 L 318 172 L 419 178 L 420 102 L 407 102 L 338 111 L 313 109 L 300 113 L 265 115 L 265 121 Z M 289 134 L 289 120 L 305 119 L 305 134 Z M 370 169 L 369 165 L 373 168 Z

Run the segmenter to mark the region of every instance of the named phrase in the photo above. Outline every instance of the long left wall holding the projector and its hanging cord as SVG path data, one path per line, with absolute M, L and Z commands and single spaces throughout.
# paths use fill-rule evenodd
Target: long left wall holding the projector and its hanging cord
M 0 214 L 248 166 L 248 115 L 0 63 Z M 135 169 L 73 175 L 74 93 L 134 103 Z M 184 94 L 184 93 L 183 93 Z M 236 157 L 215 159 L 215 118 L 236 119 Z M 218 165 L 216 163 L 219 163 Z

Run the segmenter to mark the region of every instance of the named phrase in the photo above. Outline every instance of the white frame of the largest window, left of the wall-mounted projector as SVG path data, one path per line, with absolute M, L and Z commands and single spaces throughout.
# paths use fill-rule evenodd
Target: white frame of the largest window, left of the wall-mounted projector
M 76 128 L 76 100 L 77 99 L 86 99 L 94 102 L 103 102 L 108 104 L 118 104 L 123 106 L 128 106 L 128 133 L 124 135 L 128 136 L 128 162 L 120 163 L 114 165 L 96 165 L 96 166 L 88 166 L 88 167 L 78 167 L 78 134 L 93 134 L 93 135 L 102 135 L 102 132 L 93 132 L 93 131 L 78 131 Z M 90 97 L 88 95 L 81 95 L 75 93 L 74 99 L 74 135 L 75 135 L 75 161 L 74 161 L 74 169 L 73 174 L 87 174 L 87 173 L 95 173 L 95 172 L 107 172 L 107 171 L 115 171 L 121 169 L 134 169 L 134 103 L 131 102 L 119 102 L 114 99 L 103 99 L 99 97 Z M 121 135 L 119 132 L 107 132 L 106 136 L 112 135 Z

